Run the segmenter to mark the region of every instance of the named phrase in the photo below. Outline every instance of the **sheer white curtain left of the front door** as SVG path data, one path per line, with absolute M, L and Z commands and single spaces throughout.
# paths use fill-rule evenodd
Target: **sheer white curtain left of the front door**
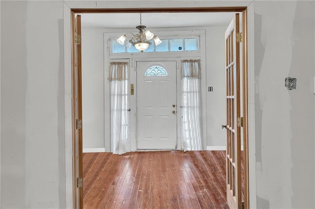
M 114 154 L 126 153 L 128 140 L 128 63 L 110 63 L 111 141 Z

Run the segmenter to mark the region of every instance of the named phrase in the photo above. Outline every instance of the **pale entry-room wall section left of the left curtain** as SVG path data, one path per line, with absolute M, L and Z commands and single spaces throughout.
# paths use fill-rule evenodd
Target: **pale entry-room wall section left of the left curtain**
M 102 32 L 82 28 L 83 148 L 105 148 L 103 39 Z

